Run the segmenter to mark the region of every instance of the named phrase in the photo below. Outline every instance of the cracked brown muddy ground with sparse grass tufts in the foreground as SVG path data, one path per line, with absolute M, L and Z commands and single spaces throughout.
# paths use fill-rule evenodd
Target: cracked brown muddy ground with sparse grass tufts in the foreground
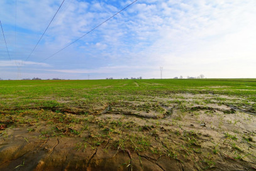
M 256 170 L 256 116 L 250 101 L 231 103 L 243 100 L 177 93 L 6 109 L 0 170 Z

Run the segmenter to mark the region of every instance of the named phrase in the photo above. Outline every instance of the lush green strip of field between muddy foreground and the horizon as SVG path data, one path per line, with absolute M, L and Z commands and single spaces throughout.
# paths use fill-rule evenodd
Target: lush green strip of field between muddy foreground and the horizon
M 174 93 L 242 96 L 255 102 L 256 79 L 151 80 L 4 80 L 1 109 L 52 108 L 129 100 L 131 96 L 169 96 Z M 58 101 L 71 101 L 60 103 Z M 255 106 L 254 106 L 255 107 Z

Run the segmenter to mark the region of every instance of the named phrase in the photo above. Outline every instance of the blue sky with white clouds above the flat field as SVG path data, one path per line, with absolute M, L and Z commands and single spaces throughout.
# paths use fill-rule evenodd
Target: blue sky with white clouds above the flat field
M 65 0 L 25 61 L 62 0 L 17 0 L 16 31 L 15 0 L 0 1 L 11 57 L 0 35 L 0 78 L 150 79 L 160 77 L 160 67 L 163 78 L 256 77 L 255 0 L 138 0 L 44 60 L 131 2 Z

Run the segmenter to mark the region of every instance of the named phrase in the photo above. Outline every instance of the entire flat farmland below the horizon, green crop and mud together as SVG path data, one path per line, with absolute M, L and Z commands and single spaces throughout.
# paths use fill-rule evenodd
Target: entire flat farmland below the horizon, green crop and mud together
M 0 170 L 255 170 L 256 79 L 1 80 Z

